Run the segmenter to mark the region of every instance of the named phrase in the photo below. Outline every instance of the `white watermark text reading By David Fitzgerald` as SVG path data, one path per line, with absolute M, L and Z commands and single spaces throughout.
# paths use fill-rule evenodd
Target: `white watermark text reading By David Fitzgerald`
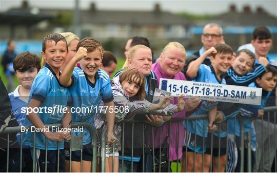
M 27 133 L 27 132 L 84 132 L 84 127 L 75 127 L 75 128 L 64 128 L 64 127 L 58 127 L 58 126 L 49 126 L 49 127 L 42 127 L 38 128 L 35 126 L 31 127 L 24 127 L 21 126 L 21 132 Z

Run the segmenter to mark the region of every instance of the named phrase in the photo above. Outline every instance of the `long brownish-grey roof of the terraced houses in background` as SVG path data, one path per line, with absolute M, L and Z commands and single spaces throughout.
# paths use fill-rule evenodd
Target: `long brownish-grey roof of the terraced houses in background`
M 40 9 L 43 14 L 73 10 Z M 165 11 L 80 10 L 82 24 L 189 25 L 190 21 Z

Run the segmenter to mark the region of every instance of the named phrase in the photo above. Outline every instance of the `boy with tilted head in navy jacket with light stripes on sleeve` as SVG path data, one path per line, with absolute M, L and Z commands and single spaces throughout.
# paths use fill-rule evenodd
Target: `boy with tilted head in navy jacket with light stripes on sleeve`
M 265 72 L 265 66 L 268 64 L 268 61 L 265 57 L 261 57 L 259 60 L 260 64 L 254 65 L 255 56 L 254 54 L 247 49 L 240 50 L 236 53 L 235 60 L 231 68 L 224 74 L 224 78 L 226 80 L 226 84 L 228 85 L 239 85 L 239 86 L 248 86 L 252 83 L 256 78 L 261 76 Z M 218 151 L 220 152 L 221 157 L 221 167 L 220 171 L 224 171 L 225 163 L 226 163 L 226 136 L 227 136 L 227 123 L 229 124 L 228 128 L 234 130 L 234 119 L 236 115 L 239 114 L 241 108 L 241 104 L 236 103 L 226 103 L 220 102 L 217 105 L 217 109 L 220 110 L 224 114 L 224 122 L 221 123 L 221 133 L 219 134 L 219 130 L 214 133 L 213 139 L 216 141 L 215 144 L 219 142 L 219 136 L 221 136 L 221 147 L 214 147 L 213 155 L 214 156 L 214 165 L 217 165 L 217 157 Z M 244 119 L 243 119 L 244 120 Z M 236 128 L 240 127 L 239 120 L 236 121 Z M 251 124 L 251 123 L 250 123 Z M 230 128 L 231 127 L 231 128 Z M 233 131 L 228 130 L 229 134 L 234 134 Z M 208 147 L 207 152 L 208 155 L 211 155 L 211 149 Z M 214 166 L 214 170 L 217 166 Z

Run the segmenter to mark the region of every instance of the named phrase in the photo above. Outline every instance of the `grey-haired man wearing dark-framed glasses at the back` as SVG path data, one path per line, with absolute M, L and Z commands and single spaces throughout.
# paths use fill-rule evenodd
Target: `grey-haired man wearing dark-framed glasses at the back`
M 203 44 L 203 47 L 199 51 L 193 53 L 197 57 L 200 57 L 211 47 L 219 43 L 224 43 L 221 26 L 215 23 L 207 24 L 203 29 L 203 34 L 201 35 L 201 42 Z M 204 60 L 203 64 L 211 64 L 209 57 Z

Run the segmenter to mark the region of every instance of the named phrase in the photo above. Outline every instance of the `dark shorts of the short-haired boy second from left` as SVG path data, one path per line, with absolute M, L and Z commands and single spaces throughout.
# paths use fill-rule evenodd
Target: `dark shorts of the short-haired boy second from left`
M 32 152 L 32 149 L 31 149 Z M 40 150 L 38 158 L 39 169 L 41 172 L 57 172 L 57 156 L 58 150 L 47 150 L 47 162 L 45 160 L 46 150 Z M 65 150 L 60 149 L 59 158 L 59 172 L 65 172 Z M 45 170 L 45 164 L 47 163 L 47 171 Z

